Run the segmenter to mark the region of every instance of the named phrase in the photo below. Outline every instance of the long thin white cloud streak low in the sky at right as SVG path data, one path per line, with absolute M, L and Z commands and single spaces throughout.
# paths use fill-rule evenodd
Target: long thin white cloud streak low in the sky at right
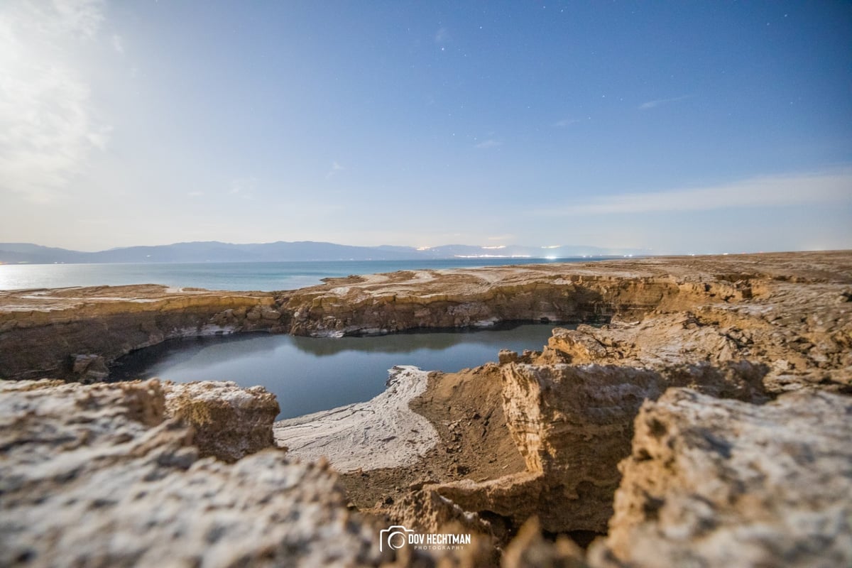
M 611 215 L 654 211 L 852 204 L 852 170 L 774 175 L 665 192 L 622 193 L 543 210 L 542 215 Z

